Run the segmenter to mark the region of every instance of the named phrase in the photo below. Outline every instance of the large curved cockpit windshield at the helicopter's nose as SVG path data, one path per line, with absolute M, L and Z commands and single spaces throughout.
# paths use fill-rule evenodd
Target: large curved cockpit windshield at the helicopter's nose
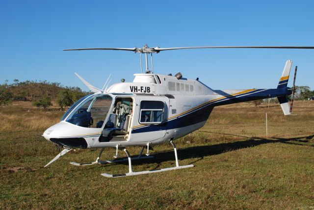
M 105 94 L 85 97 L 85 101 L 72 108 L 65 121 L 85 128 L 101 128 L 109 112 L 112 98 Z

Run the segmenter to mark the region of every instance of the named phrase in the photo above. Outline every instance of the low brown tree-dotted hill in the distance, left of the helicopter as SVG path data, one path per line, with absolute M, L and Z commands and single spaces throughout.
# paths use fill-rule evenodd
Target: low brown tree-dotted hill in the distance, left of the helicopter
M 11 92 L 13 101 L 36 101 L 44 96 L 49 96 L 52 100 L 57 98 L 57 94 L 62 90 L 68 90 L 74 100 L 90 94 L 90 92 L 82 91 L 79 87 L 63 86 L 59 82 L 48 81 L 22 81 L 15 79 L 12 84 L 2 84 L 9 92 Z

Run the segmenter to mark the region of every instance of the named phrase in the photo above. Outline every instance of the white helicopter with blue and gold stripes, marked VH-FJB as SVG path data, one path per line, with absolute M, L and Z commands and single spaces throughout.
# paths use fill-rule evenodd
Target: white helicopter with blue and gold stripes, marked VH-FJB
M 292 61 L 286 62 L 284 71 L 275 89 L 214 90 L 199 81 L 186 79 L 179 72 L 175 76 L 154 74 L 153 53 L 168 50 L 204 49 L 204 48 L 270 48 L 270 49 L 314 49 L 314 47 L 282 46 L 222 46 L 222 47 L 179 47 L 179 48 L 89 48 L 79 50 L 122 50 L 140 54 L 141 74 L 134 74 L 133 82 L 115 83 L 110 87 L 98 89 L 78 76 L 94 94 L 79 99 L 64 114 L 61 122 L 47 129 L 43 136 L 65 149 L 53 158 L 45 167 L 73 148 L 95 149 L 101 151 L 94 162 L 71 164 L 76 166 L 106 164 L 129 161 L 129 172 L 107 174 L 105 177 L 124 177 L 140 174 L 157 173 L 175 169 L 193 167 L 179 165 L 174 140 L 203 127 L 214 106 L 247 102 L 257 99 L 277 97 L 285 115 L 292 111 L 293 87 L 287 87 Z M 146 72 L 142 73 L 142 57 L 145 54 Z M 148 69 L 148 54 L 151 54 L 152 68 Z M 287 96 L 292 94 L 291 104 Z M 170 142 L 174 148 L 176 166 L 151 171 L 132 171 L 132 159 L 151 158 L 152 146 Z M 138 157 L 130 157 L 126 147 L 142 147 Z M 123 150 L 128 158 L 100 160 L 105 148 Z M 146 156 L 142 157 L 147 148 Z

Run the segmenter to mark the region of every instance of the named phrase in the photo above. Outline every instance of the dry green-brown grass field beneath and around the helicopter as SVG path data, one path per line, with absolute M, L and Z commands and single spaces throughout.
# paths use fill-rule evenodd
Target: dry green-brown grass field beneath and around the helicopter
M 314 102 L 296 102 L 294 112 L 215 107 L 202 129 L 176 140 L 180 164 L 195 167 L 109 179 L 100 174 L 125 173 L 128 163 L 69 164 L 94 160 L 97 150 L 76 150 L 43 168 L 58 151 L 41 134 L 63 112 L 0 107 L 0 209 L 314 209 Z M 102 159 L 113 155 L 106 150 Z M 133 171 L 175 165 L 170 144 L 153 155 L 133 161 Z

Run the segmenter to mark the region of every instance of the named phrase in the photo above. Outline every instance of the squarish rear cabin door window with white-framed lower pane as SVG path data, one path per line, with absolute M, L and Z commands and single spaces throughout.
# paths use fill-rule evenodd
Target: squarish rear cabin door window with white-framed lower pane
M 164 103 L 160 101 L 142 101 L 140 105 L 140 124 L 160 124 L 163 122 Z

